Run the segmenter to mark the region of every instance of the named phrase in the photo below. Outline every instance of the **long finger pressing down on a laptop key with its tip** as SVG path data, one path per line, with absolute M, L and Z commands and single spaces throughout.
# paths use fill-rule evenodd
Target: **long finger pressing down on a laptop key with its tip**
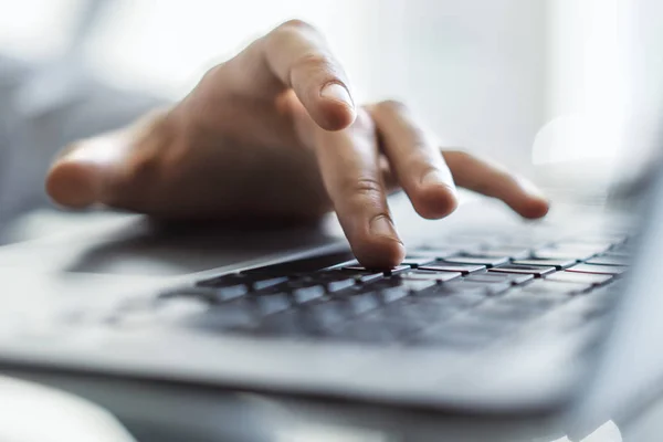
M 355 256 L 367 267 L 400 264 L 404 248 L 387 204 L 370 117 L 361 112 L 346 130 L 319 130 L 316 141 L 325 187 Z

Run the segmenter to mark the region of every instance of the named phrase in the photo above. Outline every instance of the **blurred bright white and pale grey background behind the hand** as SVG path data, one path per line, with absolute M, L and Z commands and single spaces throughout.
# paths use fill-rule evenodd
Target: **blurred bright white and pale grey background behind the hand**
M 55 77 L 19 94 L 20 109 L 62 98 L 76 70 L 177 99 L 299 18 L 328 38 L 362 101 L 403 99 L 445 145 L 575 192 L 623 168 L 638 22 L 663 12 L 648 1 L 642 13 L 620 0 L 0 0 L 0 54 Z

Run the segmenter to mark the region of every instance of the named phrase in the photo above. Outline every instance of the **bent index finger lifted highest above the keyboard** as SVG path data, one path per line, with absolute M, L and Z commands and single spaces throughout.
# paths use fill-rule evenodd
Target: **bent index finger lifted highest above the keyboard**
M 255 80 L 270 83 L 264 71 L 282 86 L 292 87 L 323 129 L 339 130 L 356 118 L 347 75 L 323 36 L 305 22 L 292 20 L 283 23 L 249 46 L 232 63 L 235 80 L 246 90 L 255 91 L 261 86 Z M 254 74 L 248 75 L 252 71 Z

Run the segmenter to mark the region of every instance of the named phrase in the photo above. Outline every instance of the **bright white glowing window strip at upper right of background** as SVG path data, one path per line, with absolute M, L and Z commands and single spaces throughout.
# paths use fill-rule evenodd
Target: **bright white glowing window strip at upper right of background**
M 549 123 L 534 164 L 617 158 L 628 93 L 629 8 L 620 0 L 550 3 Z

